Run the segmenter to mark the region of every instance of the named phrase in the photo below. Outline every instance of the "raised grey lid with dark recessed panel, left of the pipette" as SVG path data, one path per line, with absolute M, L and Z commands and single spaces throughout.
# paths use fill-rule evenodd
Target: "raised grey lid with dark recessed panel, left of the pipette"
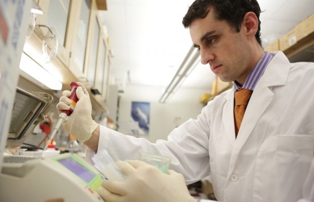
M 53 96 L 48 93 L 16 89 L 6 148 L 18 147 L 25 141 L 52 109 L 52 100 Z

